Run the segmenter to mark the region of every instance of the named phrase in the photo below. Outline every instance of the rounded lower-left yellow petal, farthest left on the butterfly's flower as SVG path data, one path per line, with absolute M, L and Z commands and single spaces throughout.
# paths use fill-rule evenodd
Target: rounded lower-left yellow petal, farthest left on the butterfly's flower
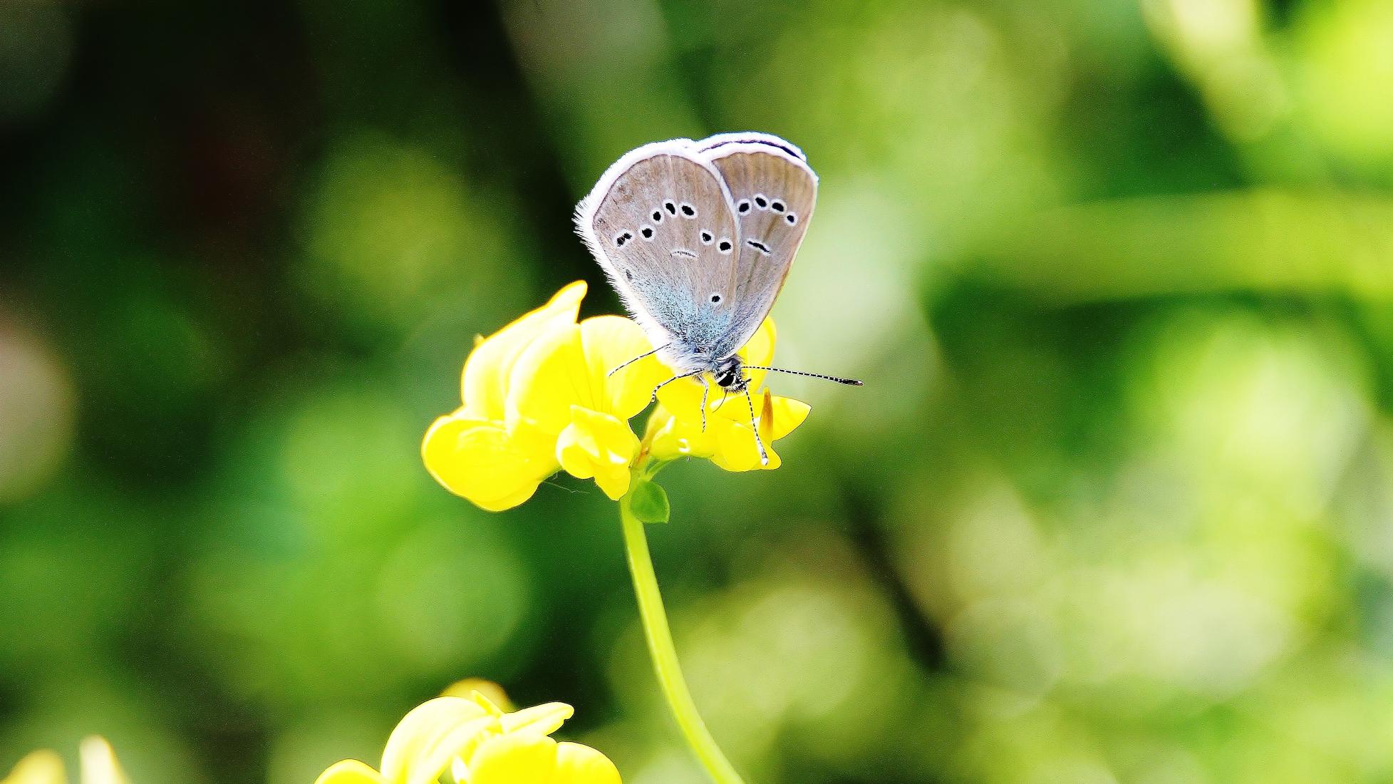
M 499 511 L 532 497 L 556 472 L 549 450 L 520 448 L 522 443 L 497 422 L 442 416 L 426 430 L 421 458 L 444 489 Z

